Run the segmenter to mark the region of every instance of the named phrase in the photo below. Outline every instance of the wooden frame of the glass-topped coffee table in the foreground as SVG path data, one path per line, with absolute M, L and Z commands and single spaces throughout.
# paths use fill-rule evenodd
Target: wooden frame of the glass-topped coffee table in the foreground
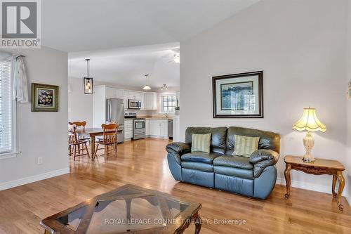
M 116 193 L 126 190 L 128 188 L 140 190 L 140 193 L 134 193 L 134 194 L 128 194 L 128 195 L 116 195 Z M 157 227 L 157 228 L 149 228 L 149 229 L 143 229 L 143 230 L 131 230 L 131 231 L 125 231 L 121 233 L 138 233 L 138 234 L 150 234 L 150 233 L 159 233 L 159 234 L 166 234 L 166 233 L 174 233 L 174 234 L 181 234 L 187 229 L 191 223 L 195 224 L 195 234 L 199 234 L 201 230 L 201 218 L 199 216 L 199 209 L 201 209 L 201 204 L 199 203 L 192 203 L 192 202 L 187 202 L 183 200 L 179 200 L 176 197 L 173 197 L 167 193 L 161 193 L 156 190 L 150 190 L 146 188 L 141 188 L 139 186 L 134 186 L 134 185 L 125 185 L 121 186 L 115 190 L 112 190 L 108 193 L 104 193 L 102 195 L 98 195 L 97 197 L 93 197 L 92 199 L 88 199 L 85 202 L 81 202 L 80 204 L 77 204 L 77 206 L 71 207 L 69 209 L 66 209 L 63 212 L 59 212 L 58 214 L 54 214 L 53 216 L 49 216 L 48 218 L 42 220 L 40 222 L 41 226 L 45 229 L 45 233 L 60 233 L 60 234 L 82 234 L 86 233 L 88 230 L 91 218 L 93 216 L 93 212 L 95 209 L 95 204 L 99 200 L 126 200 L 126 206 L 127 206 L 127 214 L 126 217 L 130 218 L 130 208 L 128 209 L 128 204 L 129 207 L 131 205 L 131 202 L 128 202 L 128 199 L 132 200 L 133 198 L 143 198 L 143 197 L 149 197 L 149 196 L 154 196 L 156 195 L 159 200 L 159 207 L 161 209 L 161 213 L 163 215 L 163 218 L 168 220 L 168 219 L 173 219 L 174 222 L 172 223 L 167 223 L 166 226 L 163 227 Z M 185 203 L 189 205 L 185 211 L 180 212 L 176 218 L 173 218 L 171 215 L 171 212 L 168 208 L 168 205 L 166 204 L 166 198 L 171 199 L 171 200 L 176 200 L 180 203 Z M 67 228 L 67 226 L 63 225 L 56 219 L 59 217 L 65 216 L 81 207 L 86 206 L 86 212 L 83 214 L 81 217 L 81 222 L 79 223 L 79 226 L 76 231 Z

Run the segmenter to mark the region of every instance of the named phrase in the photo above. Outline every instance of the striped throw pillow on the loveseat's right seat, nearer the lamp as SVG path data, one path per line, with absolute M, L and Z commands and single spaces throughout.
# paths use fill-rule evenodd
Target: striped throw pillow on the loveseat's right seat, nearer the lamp
M 259 137 L 235 135 L 234 152 L 232 155 L 250 157 L 258 149 Z

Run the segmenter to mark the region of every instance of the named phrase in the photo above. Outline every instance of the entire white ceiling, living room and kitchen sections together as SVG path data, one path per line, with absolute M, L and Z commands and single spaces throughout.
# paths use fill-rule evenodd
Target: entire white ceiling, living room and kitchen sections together
M 192 37 L 259 0 L 41 1 L 42 44 L 69 52 L 69 77 L 153 88 L 179 86 L 171 60 L 179 41 Z M 180 56 L 181 57 L 181 56 Z

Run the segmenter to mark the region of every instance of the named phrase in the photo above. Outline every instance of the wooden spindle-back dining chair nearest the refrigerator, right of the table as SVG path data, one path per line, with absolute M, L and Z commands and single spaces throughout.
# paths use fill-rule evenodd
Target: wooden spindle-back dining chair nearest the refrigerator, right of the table
M 108 155 L 109 147 L 112 146 L 115 156 L 117 157 L 117 130 L 118 124 L 102 124 L 103 129 L 103 138 L 96 141 L 97 145 L 95 148 L 95 152 L 93 158 L 96 157 L 96 153 L 98 150 L 105 149 L 105 157 Z M 99 148 L 99 145 L 104 145 L 104 148 Z

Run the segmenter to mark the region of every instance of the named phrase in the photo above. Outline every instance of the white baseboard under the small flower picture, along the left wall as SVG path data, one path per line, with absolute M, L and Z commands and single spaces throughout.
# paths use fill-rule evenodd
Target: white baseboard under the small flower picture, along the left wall
M 18 180 L 15 181 L 8 181 L 5 183 L 0 183 L 0 191 L 1 190 L 6 190 L 8 188 L 13 188 L 13 187 L 17 187 L 17 186 L 22 186 L 24 184 L 27 183 L 33 183 L 36 181 L 41 181 L 44 180 L 46 178 L 51 178 L 51 177 L 55 177 L 55 176 L 60 176 L 63 174 L 68 174 L 69 173 L 69 167 L 63 168 L 63 169 L 59 169 L 56 171 L 49 171 L 43 174 L 39 174 L 39 175 L 35 175 L 35 176 L 28 176 L 25 178 L 20 178 Z

